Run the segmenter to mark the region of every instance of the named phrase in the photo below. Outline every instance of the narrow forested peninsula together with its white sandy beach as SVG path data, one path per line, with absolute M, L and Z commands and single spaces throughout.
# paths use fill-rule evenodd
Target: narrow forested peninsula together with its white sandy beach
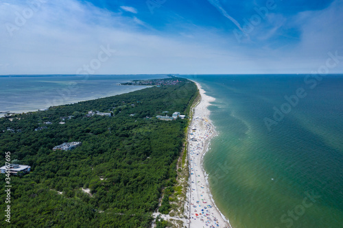
M 177 77 L 132 83 L 153 87 L 0 118 L 1 153 L 31 168 L 12 177 L 12 224 L 230 227 L 202 168 L 213 97 Z

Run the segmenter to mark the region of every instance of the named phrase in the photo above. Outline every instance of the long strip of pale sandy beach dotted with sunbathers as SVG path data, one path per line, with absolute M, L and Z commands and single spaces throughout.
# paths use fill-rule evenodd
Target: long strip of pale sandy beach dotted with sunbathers
M 232 228 L 213 201 L 207 175 L 202 166 L 210 140 L 217 135 L 209 119 L 211 112 L 207 108 L 215 98 L 206 95 L 198 82 L 193 82 L 200 92 L 200 101 L 193 107 L 193 116 L 187 133 L 190 177 L 187 192 L 189 227 Z

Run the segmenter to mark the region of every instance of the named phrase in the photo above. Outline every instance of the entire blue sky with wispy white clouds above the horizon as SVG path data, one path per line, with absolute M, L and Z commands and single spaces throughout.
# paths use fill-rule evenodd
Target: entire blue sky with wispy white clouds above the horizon
M 4 0 L 0 74 L 343 73 L 342 21 L 343 0 Z

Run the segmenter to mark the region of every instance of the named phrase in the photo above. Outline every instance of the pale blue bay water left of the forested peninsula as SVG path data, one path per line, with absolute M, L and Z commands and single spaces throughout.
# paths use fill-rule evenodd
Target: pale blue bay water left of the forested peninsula
M 55 105 L 109 97 L 146 88 L 118 86 L 119 83 L 163 77 L 166 75 L 0 76 L 0 112 L 32 112 Z

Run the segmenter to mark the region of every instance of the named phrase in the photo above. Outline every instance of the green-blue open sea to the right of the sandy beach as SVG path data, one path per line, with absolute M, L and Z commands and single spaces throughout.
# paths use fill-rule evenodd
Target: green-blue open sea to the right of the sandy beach
M 234 228 L 343 227 L 342 75 L 185 77 L 216 98 L 204 168 Z

